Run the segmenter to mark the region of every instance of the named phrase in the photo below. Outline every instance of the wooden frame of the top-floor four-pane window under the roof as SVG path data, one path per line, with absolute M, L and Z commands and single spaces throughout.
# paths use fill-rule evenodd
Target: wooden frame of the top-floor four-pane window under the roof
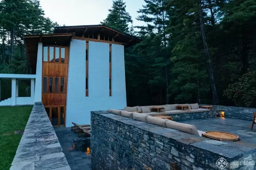
M 47 62 L 47 63 L 61 63 L 61 48 L 65 49 L 64 52 L 64 63 L 67 64 L 68 63 L 68 54 L 66 53 L 66 51 L 68 50 L 68 47 L 66 46 L 54 46 L 54 45 L 43 45 L 43 49 L 44 47 L 48 47 L 48 56 L 47 56 L 47 61 L 43 61 L 43 62 Z M 50 47 L 53 47 L 53 62 L 50 62 Z M 56 62 L 56 48 L 59 48 L 59 62 Z M 43 55 L 44 55 L 44 50 L 43 50 Z M 42 55 L 42 56 L 43 56 Z M 44 56 L 43 56 L 44 57 Z M 57 57 L 58 58 L 58 57 Z M 61 64 L 64 64 L 61 63 Z

